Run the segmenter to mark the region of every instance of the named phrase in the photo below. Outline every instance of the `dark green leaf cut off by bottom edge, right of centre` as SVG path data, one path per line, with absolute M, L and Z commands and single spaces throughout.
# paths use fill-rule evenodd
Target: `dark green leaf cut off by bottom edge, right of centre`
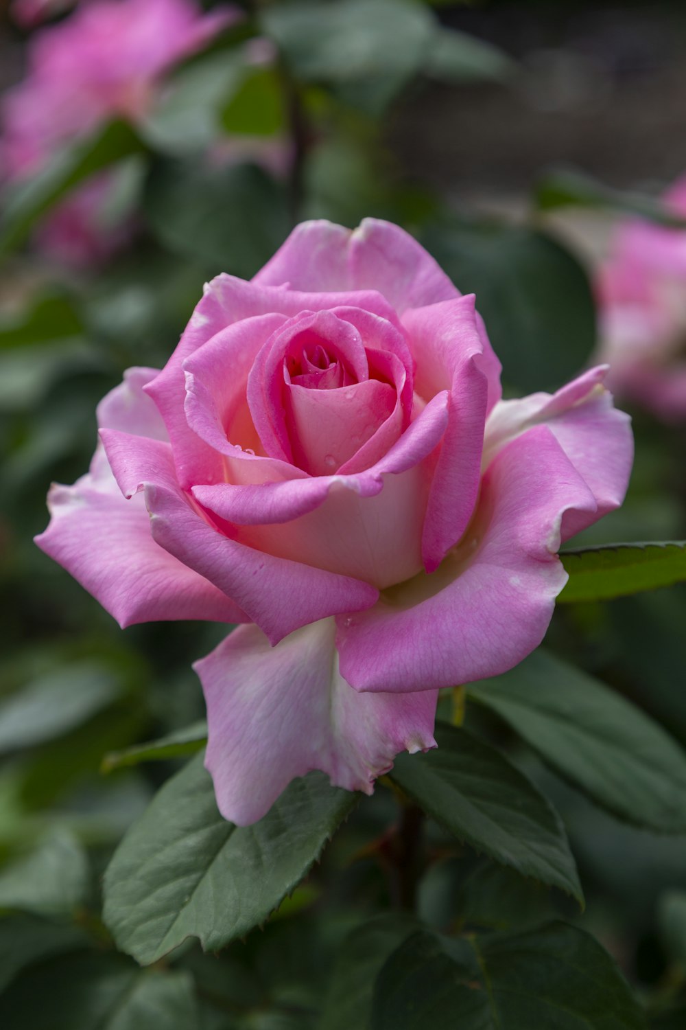
M 616 963 L 564 923 L 448 940 L 419 932 L 374 989 L 371 1030 L 645 1030 Z

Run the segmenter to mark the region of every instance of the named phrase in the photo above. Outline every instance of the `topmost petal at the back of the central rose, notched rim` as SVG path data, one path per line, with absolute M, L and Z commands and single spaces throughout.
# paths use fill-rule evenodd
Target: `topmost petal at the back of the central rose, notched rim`
M 460 296 L 409 233 L 378 218 L 365 218 L 352 232 L 324 219 L 296 226 L 253 282 L 317 291 L 376 289 L 398 313 Z

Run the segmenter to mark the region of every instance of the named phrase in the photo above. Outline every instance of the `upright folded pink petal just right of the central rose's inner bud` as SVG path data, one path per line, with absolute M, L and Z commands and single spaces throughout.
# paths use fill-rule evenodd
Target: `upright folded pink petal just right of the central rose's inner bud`
M 403 324 L 417 357 L 417 391 L 431 398 L 438 390 L 449 390 L 448 424 L 422 540 L 425 568 L 434 572 L 467 528 L 476 503 L 489 359 L 473 295 L 406 311 Z

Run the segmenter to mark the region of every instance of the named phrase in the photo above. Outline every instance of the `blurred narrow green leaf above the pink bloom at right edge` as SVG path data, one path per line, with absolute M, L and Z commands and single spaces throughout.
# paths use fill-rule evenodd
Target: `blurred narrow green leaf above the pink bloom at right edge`
M 536 184 L 534 202 L 540 211 L 559 207 L 590 207 L 634 214 L 674 229 L 686 229 L 686 218 L 653 197 L 612 190 L 590 175 L 571 169 L 545 174 Z

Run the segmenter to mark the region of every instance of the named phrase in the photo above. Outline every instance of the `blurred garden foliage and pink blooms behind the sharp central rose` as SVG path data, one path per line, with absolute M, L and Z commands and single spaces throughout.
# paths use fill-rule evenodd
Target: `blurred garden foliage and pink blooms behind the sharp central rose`
M 190 663 L 225 633 L 120 630 L 33 544 L 47 488 L 86 471 L 98 401 L 128 367 L 166 363 L 203 283 L 252 276 L 297 221 L 407 228 L 476 293 L 508 396 L 554 389 L 611 355 L 636 470 L 624 508 L 585 542 L 686 537 L 686 201 L 673 188 L 686 174 L 686 7 L 14 0 L 0 11 L 2 956 L 34 924 L 58 927 L 57 951 L 74 930 L 107 947 L 100 876 L 175 767 L 133 765 L 125 749 L 204 718 Z M 548 644 L 686 745 L 685 626 L 686 592 L 671 588 L 568 606 Z M 467 720 L 558 805 L 588 905 L 574 915 L 521 880 L 521 904 L 507 907 L 505 873 L 432 830 L 424 918 L 571 914 L 620 961 L 654 1028 L 683 1030 L 686 838 L 620 824 L 502 725 L 469 709 Z M 377 791 L 263 934 L 210 965 L 194 950 L 181 958 L 203 1026 L 317 1025 L 344 933 L 388 899 L 393 818 Z M 230 993 L 207 987 L 219 961 L 250 978 L 243 994 L 231 982 L 228 1008 L 207 1000 Z

